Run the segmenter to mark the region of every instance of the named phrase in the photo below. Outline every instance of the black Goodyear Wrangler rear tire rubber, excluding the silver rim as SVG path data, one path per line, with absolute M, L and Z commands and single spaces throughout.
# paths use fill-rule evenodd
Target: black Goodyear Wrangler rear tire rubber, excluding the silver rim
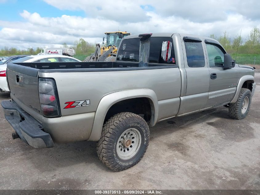
M 137 129 L 141 134 L 141 145 L 130 159 L 121 159 L 117 154 L 117 142 L 121 134 L 129 128 Z M 136 165 L 144 156 L 150 140 L 150 131 L 146 121 L 131 112 L 121 112 L 106 121 L 102 135 L 97 143 L 97 153 L 104 165 L 114 171 L 122 171 Z

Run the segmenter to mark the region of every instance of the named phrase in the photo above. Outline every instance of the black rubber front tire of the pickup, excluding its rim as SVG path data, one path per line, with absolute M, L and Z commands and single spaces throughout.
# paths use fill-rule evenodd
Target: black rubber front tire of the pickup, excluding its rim
M 246 96 L 248 97 L 249 104 L 248 104 L 246 112 L 242 113 L 242 105 L 243 105 L 243 102 L 244 102 Z M 236 101 L 236 103 L 229 104 L 229 108 L 228 108 L 229 116 L 231 118 L 238 119 L 238 120 L 245 118 L 249 112 L 250 104 L 251 104 L 251 91 L 246 88 L 241 88 L 240 93 L 238 95 L 238 100 Z

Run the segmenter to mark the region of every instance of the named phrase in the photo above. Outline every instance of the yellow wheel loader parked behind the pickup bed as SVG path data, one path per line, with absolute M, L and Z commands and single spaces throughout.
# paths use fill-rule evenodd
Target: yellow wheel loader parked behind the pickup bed
M 103 45 L 105 45 L 101 47 L 100 44 L 97 43 L 95 52 L 86 57 L 83 62 L 114 62 L 121 39 L 130 35 L 130 33 L 116 31 L 106 32 L 105 35 L 106 37 L 103 37 Z

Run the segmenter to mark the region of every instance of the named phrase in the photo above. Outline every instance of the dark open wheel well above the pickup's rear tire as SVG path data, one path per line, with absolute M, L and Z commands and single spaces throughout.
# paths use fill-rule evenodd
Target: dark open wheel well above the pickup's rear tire
M 140 115 L 142 118 L 144 118 L 144 120 L 146 120 L 147 124 L 149 124 L 152 116 L 152 107 L 150 101 L 151 100 L 149 98 L 142 97 L 117 102 L 109 108 L 108 112 L 106 113 L 105 121 L 117 113 L 132 112 L 134 114 Z

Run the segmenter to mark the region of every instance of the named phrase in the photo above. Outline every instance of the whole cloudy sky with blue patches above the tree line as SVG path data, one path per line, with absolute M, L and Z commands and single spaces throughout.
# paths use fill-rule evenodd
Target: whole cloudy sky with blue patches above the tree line
M 101 43 L 106 31 L 180 32 L 245 39 L 260 27 L 259 0 L 0 0 L 0 48 Z

